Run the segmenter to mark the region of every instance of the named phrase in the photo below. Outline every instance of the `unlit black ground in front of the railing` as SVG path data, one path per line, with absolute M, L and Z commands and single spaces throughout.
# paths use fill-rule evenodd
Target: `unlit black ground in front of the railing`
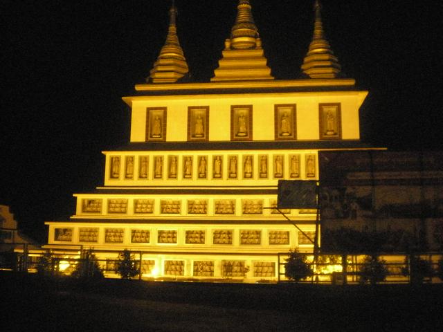
M 0 273 L 8 331 L 442 331 L 443 285 L 44 279 Z M 4 331 L 4 330 L 3 330 Z

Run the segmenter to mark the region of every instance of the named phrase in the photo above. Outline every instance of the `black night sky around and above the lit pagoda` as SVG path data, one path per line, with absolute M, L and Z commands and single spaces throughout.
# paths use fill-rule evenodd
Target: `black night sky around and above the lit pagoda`
M 311 0 L 252 0 L 277 79 L 298 78 L 311 39 Z M 343 72 L 370 95 L 365 142 L 441 149 L 442 2 L 323 0 L 327 39 Z M 237 0 L 177 0 L 192 76 L 207 82 L 235 21 Z M 123 95 L 141 83 L 163 45 L 167 0 L 0 3 L 0 204 L 44 241 L 44 221 L 74 213 L 75 192 L 102 185 L 102 150 L 129 140 Z M 5 22 L 6 20 L 6 22 Z M 441 47 L 440 47 L 441 48 Z

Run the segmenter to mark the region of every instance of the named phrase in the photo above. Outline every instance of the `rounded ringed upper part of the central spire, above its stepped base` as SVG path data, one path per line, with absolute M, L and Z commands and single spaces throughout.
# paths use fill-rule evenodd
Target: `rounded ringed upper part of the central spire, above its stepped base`
M 255 26 L 249 0 L 240 0 L 237 6 L 237 19 L 230 33 L 231 47 L 234 49 L 253 48 L 257 42 L 258 30 Z

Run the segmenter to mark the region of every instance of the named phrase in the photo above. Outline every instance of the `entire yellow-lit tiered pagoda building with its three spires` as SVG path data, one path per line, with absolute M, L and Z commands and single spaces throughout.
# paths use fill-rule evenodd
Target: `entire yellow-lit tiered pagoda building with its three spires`
M 143 277 L 277 279 L 277 255 L 311 243 L 272 207 L 280 179 L 318 179 L 318 151 L 363 147 L 367 91 L 339 78 L 316 1 L 306 78 L 274 80 L 251 5 L 240 0 L 210 82 L 185 82 L 188 65 L 170 26 L 150 77 L 123 100 L 127 146 L 103 151 L 104 186 L 75 194 L 70 221 L 49 221 L 46 248 L 141 253 Z M 316 211 L 287 210 L 307 234 Z M 139 255 L 139 254 L 138 254 Z M 111 264 L 111 261 L 109 261 Z

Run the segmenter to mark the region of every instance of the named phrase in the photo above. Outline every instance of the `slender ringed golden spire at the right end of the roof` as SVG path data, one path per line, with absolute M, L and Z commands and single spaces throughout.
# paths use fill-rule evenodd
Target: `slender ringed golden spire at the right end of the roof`
M 303 60 L 302 71 L 311 78 L 336 78 L 341 71 L 341 66 L 338 64 L 338 59 L 332 52 L 329 42 L 325 39 L 320 9 L 320 1 L 315 0 L 314 35 Z

